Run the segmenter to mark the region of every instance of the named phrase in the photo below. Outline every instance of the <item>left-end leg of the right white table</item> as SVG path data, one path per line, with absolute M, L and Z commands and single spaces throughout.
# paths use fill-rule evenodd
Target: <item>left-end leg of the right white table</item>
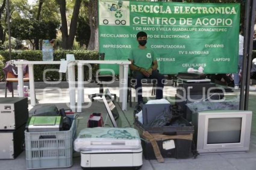
M 77 63 L 77 72 L 78 72 L 77 112 L 82 112 L 82 103 L 84 102 L 83 64 Z

